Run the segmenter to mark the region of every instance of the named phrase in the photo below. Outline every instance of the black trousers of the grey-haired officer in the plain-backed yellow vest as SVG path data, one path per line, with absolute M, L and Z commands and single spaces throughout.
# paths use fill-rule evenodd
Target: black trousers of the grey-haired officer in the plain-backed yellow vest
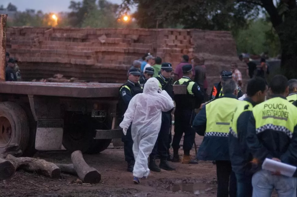
M 230 161 L 216 161 L 217 197 L 236 197 L 236 176 Z

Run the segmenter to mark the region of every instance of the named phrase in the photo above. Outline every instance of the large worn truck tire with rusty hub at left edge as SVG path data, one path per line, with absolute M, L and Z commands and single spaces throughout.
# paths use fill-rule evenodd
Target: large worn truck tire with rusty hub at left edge
M 24 109 L 13 102 L 0 103 L 0 153 L 13 143 L 17 143 L 20 150 L 26 150 L 29 134 L 29 121 Z

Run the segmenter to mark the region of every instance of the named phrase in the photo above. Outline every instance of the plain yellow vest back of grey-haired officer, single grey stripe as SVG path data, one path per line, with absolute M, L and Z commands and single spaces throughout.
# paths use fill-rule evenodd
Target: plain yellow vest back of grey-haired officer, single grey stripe
M 234 98 L 224 97 L 206 104 L 207 121 L 204 136 L 228 137 L 234 110 L 241 102 Z

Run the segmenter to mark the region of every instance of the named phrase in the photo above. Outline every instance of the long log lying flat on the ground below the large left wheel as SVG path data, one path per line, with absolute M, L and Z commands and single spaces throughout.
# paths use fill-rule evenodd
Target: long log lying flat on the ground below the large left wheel
M 7 155 L 6 160 L 13 163 L 15 169 L 24 169 L 28 172 L 42 173 L 53 179 L 60 178 L 61 170 L 54 163 L 47 162 L 43 159 L 36 159 L 31 157 L 14 157 Z

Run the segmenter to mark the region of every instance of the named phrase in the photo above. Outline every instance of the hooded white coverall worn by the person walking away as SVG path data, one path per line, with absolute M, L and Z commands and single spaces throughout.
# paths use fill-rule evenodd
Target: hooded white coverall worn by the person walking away
M 150 78 L 145 83 L 143 93 L 131 99 L 120 127 L 128 128 L 132 122 L 131 135 L 135 158 L 133 176 L 149 176 L 148 157 L 158 138 L 162 112 L 172 108 L 173 100 L 166 91 L 159 89 L 156 78 Z

